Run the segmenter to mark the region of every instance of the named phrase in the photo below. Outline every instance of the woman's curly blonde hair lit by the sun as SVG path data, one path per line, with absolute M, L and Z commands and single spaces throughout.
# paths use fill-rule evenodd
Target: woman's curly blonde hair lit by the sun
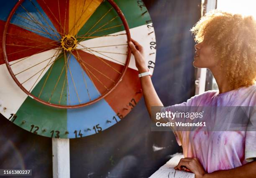
M 211 44 L 220 69 L 234 89 L 256 81 L 256 21 L 220 10 L 206 13 L 190 30 L 195 41 Z

